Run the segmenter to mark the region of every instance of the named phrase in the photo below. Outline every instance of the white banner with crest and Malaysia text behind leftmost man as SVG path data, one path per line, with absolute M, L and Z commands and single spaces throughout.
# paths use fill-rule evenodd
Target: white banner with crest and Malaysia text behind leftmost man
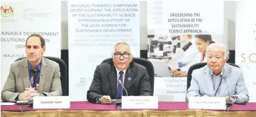
M 11 63 L 26 56 L 30 35 L 45 39 L 44 56 L 60 58 L 60 24 L 60 1 L 1 1 L 1 90 Z

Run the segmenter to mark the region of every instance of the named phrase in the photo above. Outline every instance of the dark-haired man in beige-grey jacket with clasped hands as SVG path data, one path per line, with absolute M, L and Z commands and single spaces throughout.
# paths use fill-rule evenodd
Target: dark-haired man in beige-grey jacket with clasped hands
M 1 92 L 3 101 L 27 101 L 35 96 L 62 96 L 60 66 L 43 57 L 45 39 L 30 35 L 26 39 L 26 58 L 11 64 Z

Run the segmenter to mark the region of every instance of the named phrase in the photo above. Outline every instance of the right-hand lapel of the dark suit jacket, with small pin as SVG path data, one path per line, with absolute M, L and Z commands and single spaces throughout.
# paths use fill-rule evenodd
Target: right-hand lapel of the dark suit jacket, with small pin
M 125 79 L 124 79 L 124 82 L 123 82 L 123 87 L 126 88 L 127 92 L 130 88 L 130 85 L 131 83 L 133 82 L 133 79 L 134 79 L 134 73 L 133 73 L 133 68 L 132 67 L 129 67 L 127 70 L 126 70 L 126 76 L 125 76 Z M 126 91 L 123 90 L 123 96 L 126 96 Z

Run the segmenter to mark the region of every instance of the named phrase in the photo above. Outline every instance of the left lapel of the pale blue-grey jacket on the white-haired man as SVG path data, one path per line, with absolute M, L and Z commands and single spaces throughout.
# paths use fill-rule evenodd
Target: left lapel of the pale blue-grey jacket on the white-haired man
M 208 96 L 214 96 L 214 91 L 213 91 L 213 80 L 211 77 L 211 69 L 206 67 L 205 73 L 204 73 L 204 78 L 205 78 L 205 83 L 206 83 L 206 87 L 208 92 L 210 93 L 210 95 Z

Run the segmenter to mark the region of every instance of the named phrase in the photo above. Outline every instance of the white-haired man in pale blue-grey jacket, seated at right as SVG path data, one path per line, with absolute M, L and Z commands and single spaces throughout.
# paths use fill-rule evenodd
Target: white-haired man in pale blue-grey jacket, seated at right
M 189 97 L 227 97 L 233 104 L 246 104 L 250 97 L 240 68 L 230 66 L 229 51 L 224 44 L 210 44 L 206 49 L 207 66 L 193 71 Z M 229 91 L 229 93 L 228 93 Z

